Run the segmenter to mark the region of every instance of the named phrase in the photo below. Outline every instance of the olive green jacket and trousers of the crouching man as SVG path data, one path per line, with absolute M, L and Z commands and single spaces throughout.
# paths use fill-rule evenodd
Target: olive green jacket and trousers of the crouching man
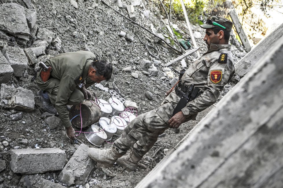
M 49 80 L 43 82 L 40 72 L 37 74 L 38 87 L 49 93 L 50 101 L 66 128 L 72 125 L 66 105 L 80 104 L 84 100 L 79 87 L 81 83 L 85 84 L 85 88 L 95 83 L 87 79 L 89 65 L 93 61 L 95 55 L 88 51 L 63 53 L 45 62 L 45 65 L 52 67 Z

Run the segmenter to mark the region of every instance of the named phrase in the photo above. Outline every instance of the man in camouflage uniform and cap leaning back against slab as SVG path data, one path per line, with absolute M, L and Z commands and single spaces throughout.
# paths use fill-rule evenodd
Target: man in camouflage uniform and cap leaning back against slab
M 90 148 L 90 157 L 106 166 L 117 162 L 128 171 L 135 170 L 160 134 L 195 120 L 198 112 L 214 104 L 234 75 L 234 60 L 231 45 L 228 45 L 232 26 L 231 21 L 218 16 L 212 16 L 201 25 L 206 29 L 203 40 L 208 50 L 183 73 L 176 89 L 167 93 L 170 94 L 157 109 L 131 121 L 112 148 Z M 133 152 L 120 158 L 131 147 Z

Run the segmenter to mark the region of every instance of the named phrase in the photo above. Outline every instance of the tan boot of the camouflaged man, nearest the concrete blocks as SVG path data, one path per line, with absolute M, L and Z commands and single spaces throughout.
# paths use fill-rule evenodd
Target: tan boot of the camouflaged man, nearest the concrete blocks
M 110 149 L 89 148 L 89 156 L 96 162 L 111 167 L 122 154 L 113 146 Z

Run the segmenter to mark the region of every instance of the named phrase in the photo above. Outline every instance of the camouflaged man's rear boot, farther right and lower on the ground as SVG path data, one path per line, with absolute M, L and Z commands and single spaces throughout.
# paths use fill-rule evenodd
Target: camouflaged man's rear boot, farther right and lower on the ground
M 137 154 L 135 151 L 132 151 L 130 155 L 127 157 L 119 158 L 116 163 L 117 165 L 122 166 L 127 171 L 131 172 L 133 170 L 136 170 L 137 163 L 142 159 L 142 156 Z

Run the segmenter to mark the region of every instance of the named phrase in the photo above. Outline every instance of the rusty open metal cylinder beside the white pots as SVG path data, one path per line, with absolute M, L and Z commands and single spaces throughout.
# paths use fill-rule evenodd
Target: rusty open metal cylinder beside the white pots
M 82 114 L 82 117 L 80 117 Z M 78 115 L 78 116 L 77 116 Z M 75 117 L 76 116 L 76 117 Z M 74 118 L 75 117 L 75 118 Z M 101 110 L 97 103 L 91 101 L 84 101 L 78 105 L 73 105 L 69 112 L 69 118 L 72 119 L 71 123 L 73 126 L 78 128 L 88 127 L 92 125 L 101 117 Z M 82 125 L 81 125 L 82 118 Z

